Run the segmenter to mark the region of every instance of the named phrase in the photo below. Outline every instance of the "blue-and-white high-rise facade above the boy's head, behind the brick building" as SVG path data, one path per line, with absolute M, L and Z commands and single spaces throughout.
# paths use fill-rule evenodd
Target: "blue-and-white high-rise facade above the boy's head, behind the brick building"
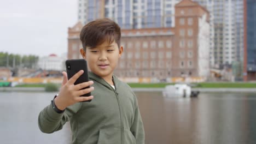
M 78 0 L 83 24 L 108 17 L 123 29 L 174 27 L 174 5 L 180 0 Z

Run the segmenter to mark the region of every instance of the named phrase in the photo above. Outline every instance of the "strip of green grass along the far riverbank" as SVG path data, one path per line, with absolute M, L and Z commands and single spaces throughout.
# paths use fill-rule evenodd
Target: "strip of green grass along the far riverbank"
M 165 88 L 132 88 L 133 92 L 162 92 Z M 191 88 L 199 92 L 256 93 L 256 88 Z M 45 92 L 44 87 L 0 87 L 0 92 Z

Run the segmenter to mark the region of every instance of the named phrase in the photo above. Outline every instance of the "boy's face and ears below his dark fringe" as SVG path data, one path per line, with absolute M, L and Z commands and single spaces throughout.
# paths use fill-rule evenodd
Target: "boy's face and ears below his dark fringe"
M 112 79 L 113 71 L 118 64 L 118 59 L 123 53 L 123 46 L 118 49 L 115 41 L 109 44 L 104 41 L 96 47 L 86 47 L 86 51 L 80 50 L 81 55 L 87 61 L 90 70 L 103 79 Z

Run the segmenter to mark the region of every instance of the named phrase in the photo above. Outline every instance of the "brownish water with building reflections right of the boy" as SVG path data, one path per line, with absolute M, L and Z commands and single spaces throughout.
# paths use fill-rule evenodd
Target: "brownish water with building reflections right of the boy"
M 256 143 L 255 94 L 203 93 L 191 99 L 137 95 L 148 144 Z

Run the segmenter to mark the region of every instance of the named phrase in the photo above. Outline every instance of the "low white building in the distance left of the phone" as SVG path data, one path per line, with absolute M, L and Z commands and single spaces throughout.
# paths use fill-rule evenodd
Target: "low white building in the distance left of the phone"
M 43 70 L 66 70 L 66 59 L 66 56 L 59 57 L 55 54 L 51 54 L 46 57 L 40 57 L 38 61 L 38 67 Z

